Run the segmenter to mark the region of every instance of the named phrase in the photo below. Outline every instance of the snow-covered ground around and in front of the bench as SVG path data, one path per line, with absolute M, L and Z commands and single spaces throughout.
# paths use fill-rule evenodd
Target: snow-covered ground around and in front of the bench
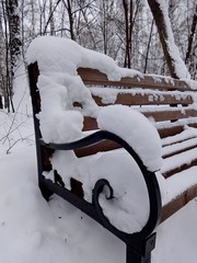
M 0 263 L 125 263 L 125 244 L 37 186 L 26 77 L 15 80 L 15 114 L 0 111 Z M 152 263 L 197 262 L 197 199 L 157 229 Z

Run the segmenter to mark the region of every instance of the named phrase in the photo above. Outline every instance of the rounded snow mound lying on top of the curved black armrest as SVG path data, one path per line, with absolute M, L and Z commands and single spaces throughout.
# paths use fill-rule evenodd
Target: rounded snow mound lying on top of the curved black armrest
M 118 135 L 140 157 L 149 171 L 162 165 L 161 139 L 155 127 L 141 113 L 128 106 L 112 105 L 100 111 L 99 127 Z

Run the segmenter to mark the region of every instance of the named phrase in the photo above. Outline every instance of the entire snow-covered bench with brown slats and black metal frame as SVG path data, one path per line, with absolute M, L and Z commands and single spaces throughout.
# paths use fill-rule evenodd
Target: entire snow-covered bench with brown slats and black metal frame
M 123 69 L 65 38 L 35 39 L 27 59 L 43 195 L 116 235 L 127 262 L 150 262 L 155 226 L 197 195 L 196 82 Z

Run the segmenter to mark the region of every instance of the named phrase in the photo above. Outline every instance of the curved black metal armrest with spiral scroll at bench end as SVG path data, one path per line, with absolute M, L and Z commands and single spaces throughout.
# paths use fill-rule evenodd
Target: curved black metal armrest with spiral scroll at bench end
M 80 198 L 78 196 L 73 196 L 73 193 L 70 191 L 56 185 L 51 186 L 51 182 L 43 182 L 45 184 L 45 187 L 47 187 L 49 191 L 53 191 L 57 194 L 59 194 L 61 197 L 80 208 L 82 211 L 94 218 L 96 221 L 99 221 L 103 227 L 105 227 L 107 230 L 113 232 L 116 237 L 121 239 L 126 243 L 130 243 L 132 241 L 140 241 L 144 240 L 147 237 L 149 237 L 152 231 L 154 230 L 155 226 L 160 221 L 161 216 L 161 195 L 160 195 L 160 188 L 159 184 L 155 178 L 154 172 L 150 172 L 147 170 L 144 164 L 142 163 L 139 156 L 136 153 L 136 151 L 120 137 L 117 135 L 106 132 L 106 130 L 99 130 L 92 135 L 89 135 L 80 140 L 68 142 L 68 144 L 45 144 L 43 140 L 39 140 L 40 145 L 54 149 L 54 150 L 74 150 L 79 148 L 84 148 L 88 146 L 92 146 L 94 144 L 99 144 L 102 140 L 113 140 L 117 144 L 119 144 L 125 150 L 129 152 L 129 155 L 135 159 L 136 163 L 138 164 L 139 169 L 141 170 L 141 173 L 143 175 L 148 195 L 149 195 L 149 218 L 147 220 L 147 224 L 139 232 L 134 233 L 127 233 L 124 231 L 120 231 L 119 229 L 115 228 L 109 220 L 106 218 L 106 216 L 103 214 L 102 207 L 100 206 L 100 194 L 103 192 L 104 187 L 108 188 L 109 195 L 107 198 L 113 198 L 113 188 L 109 184 L 109 182 L 105 179 L 101 179 L 95 183 L 94 190 L 93 190 L 93 197 L 92 197 L 92 204 L 84 201 L 83 198 Z M 53 183 L 54 184 L 54 183 Z M 62 191 L 66 191 L 65 194 Z

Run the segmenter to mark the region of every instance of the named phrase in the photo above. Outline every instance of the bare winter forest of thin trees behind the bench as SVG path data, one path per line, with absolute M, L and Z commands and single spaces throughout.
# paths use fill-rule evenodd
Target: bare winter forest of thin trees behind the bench
M 162 36 L 167 43 L 169 32 L 160 11 L 167 14 L 181 58 L 197 80 L 196 0 L 1 0 L 0 108 L 14 112 L 18 68 L 26 69 L 26 49 L 40 35 L 69 37 L 121 67 L 179 78 L 167 64 Z

